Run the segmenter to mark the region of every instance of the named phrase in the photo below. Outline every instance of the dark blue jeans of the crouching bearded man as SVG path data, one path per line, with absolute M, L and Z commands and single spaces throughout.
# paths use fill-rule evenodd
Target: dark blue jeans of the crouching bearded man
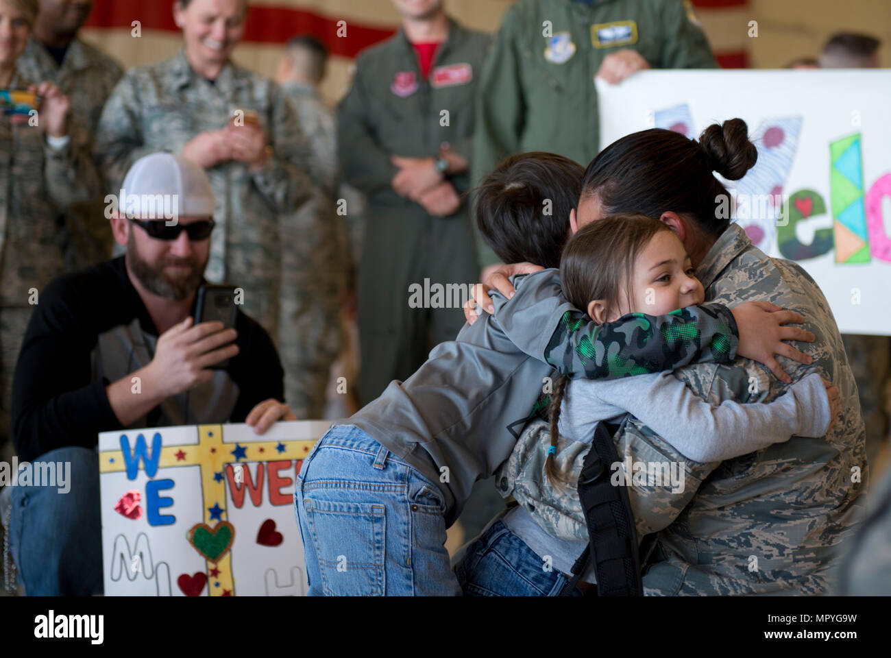
M 56 448 L 36 462 L 70 462 L 67 493 L 12 487 L 10 550 L 28 596 L 102 594 L 99 456 L 94 448 Z

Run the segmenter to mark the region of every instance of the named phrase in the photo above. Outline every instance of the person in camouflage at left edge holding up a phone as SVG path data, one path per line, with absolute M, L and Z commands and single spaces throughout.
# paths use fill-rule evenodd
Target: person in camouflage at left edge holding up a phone
M 36 17 L 37 0 L 0 0 L 0 89 L 41 99 L 29 116 L 0 114 L 0 445 L 11 434 L 12 372 L 31 309 L 62 272 L 68 227 L 57 226 L 58 208 L 99 189 L 84 131 L 68 125 L 68 97 L 16 68 Z

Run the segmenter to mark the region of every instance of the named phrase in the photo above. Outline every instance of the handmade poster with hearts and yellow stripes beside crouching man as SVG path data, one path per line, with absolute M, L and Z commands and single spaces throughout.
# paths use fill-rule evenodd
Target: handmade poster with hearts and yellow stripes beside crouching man
M 329 421 L 99 435 L 107 596 L 303 596 L 303 457 Z

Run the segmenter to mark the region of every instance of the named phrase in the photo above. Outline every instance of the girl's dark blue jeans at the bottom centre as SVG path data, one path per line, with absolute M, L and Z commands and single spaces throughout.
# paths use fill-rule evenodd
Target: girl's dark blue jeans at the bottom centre
M 557 596 L 567 577 L 544 571 L 542 558 L 498 514 L 477 539 L 454 556 L 454 575 L 464 596 Z M 584 596 L 575 588 L 572 596 Z

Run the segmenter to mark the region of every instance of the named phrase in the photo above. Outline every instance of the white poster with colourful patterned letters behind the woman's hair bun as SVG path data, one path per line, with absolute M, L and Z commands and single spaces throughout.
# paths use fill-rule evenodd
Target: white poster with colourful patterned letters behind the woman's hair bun
M 648 70 L 597 89 L 601 148 L 745 119 L 758 161 L 721 211 L 813 276 L 842 333 L 891 335 L 891 71 Z

